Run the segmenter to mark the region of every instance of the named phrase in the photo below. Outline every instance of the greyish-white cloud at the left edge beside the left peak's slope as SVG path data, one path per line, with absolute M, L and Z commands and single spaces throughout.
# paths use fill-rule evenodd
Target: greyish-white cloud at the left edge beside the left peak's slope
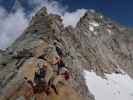
M 8 14 L 0 7 L 0 48 L 5 49 L 14 42 L 28 26 L 28 22 L 23 9 Z

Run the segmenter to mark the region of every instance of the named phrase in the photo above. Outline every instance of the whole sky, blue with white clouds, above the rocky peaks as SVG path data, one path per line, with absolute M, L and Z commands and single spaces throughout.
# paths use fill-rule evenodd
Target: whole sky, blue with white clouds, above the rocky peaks
M 49 13 L 61 15 L 64 26 L 75 27 L 87 9 L 95 9 L 122 25 L 133 27 L 132 4 L 133 0 L 0 0 L 0 48 L 11 45 L 43 6 Z

